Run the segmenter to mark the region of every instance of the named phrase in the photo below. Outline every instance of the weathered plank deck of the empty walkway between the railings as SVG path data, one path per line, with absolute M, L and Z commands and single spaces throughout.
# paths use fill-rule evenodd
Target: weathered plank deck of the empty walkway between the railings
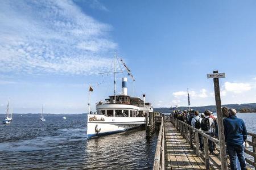
M 164 136 L 166 169 L 205 169 L 203 160 L 169 121 L 164 124 Z

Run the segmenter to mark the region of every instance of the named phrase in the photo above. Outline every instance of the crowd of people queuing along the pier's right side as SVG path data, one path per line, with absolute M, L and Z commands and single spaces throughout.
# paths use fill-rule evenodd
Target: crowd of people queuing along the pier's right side
M 247 141 L 247 131 L 245 122 L 241 118 L 237 118 L 235 109 L 222 108 L 222 118 L 224 125 L 224 135 L 226 142 L 226 151 L 230 159 L 230 168 L 246 169 L 244 156 L 245 143 Z M 198 111 L 189 109 L 189 111 L 176 110 L 172 113 L 174 118 L 183 121 L 193 128 L 203 131 L 203 133 L 211 137 L 218 138 L 217 117 L 210 111 L 199 113 Z M 199 134 L 199 143 L 201 150 L 204 150 L 203 137 Z M 208 139 L 208 147 L 210 155 L 218 155 L 214 152 L 216 145 Z

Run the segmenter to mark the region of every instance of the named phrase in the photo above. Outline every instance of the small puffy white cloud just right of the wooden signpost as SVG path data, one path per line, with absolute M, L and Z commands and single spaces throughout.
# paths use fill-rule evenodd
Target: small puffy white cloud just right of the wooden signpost
M 251 84 L 250 83 L 230 83 L 225 82 L 224 84 L 224 90 L 227 92 L 234 92 L 236 94 L 240 94 L 245 91 L 251 90 Z

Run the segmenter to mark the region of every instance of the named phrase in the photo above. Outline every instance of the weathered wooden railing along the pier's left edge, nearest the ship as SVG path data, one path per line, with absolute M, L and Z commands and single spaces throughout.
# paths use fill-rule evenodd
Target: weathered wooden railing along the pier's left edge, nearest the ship
M 164 169 L 164 116 L 160 125 L 153 169 Z

